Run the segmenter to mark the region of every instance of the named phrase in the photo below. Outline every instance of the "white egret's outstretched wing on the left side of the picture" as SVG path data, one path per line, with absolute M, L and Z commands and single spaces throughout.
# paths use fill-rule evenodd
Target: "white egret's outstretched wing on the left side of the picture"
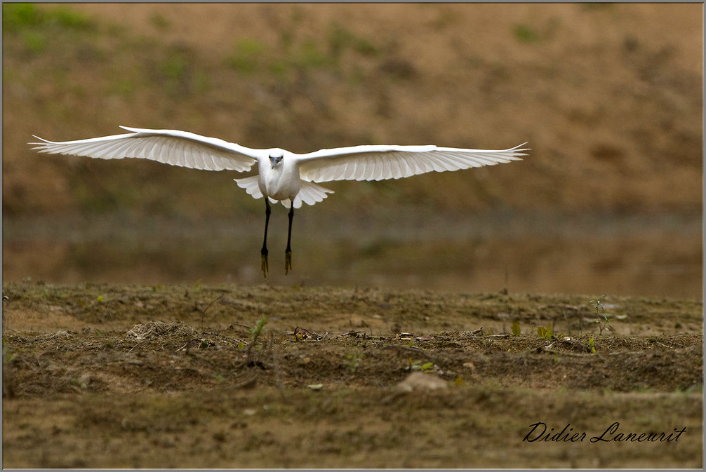
M 121 126 L 128 134 L 54 143 L 35 136 L 42 143 L 32 149 L 49 154 L 123 159 L 139 157 L 153 161 L 209 171 L 249 171 L 267 151 L 250 149 L 217 138 L 207 138 L 186 131 L 149 130 Z

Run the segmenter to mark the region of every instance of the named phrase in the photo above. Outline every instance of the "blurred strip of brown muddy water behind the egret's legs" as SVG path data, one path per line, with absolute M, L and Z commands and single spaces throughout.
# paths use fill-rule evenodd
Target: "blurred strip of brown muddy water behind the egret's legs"
M 388 286 L 702 299 L 702 216 L 286 210 L 201 221 L 127 215 L 4 219 L 4 282 Z

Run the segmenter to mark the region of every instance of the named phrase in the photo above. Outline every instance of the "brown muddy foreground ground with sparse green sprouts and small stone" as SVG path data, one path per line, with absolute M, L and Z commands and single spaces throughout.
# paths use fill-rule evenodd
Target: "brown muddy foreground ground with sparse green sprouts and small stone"
M 3 296 L 5 467 L 702 466 L 700 301 L 607 296 L 599 334 L 578 295 L 12 283 Z M 547 325 L 557 337 L 539 337 Z M 585 438 L 537 440 L 535 423 Z M 605 441 L 633 432 L 665 435 Z

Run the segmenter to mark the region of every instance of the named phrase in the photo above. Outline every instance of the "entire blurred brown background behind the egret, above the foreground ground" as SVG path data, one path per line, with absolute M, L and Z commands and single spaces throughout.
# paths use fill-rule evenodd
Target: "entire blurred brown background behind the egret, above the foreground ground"
M 702 299 L 702 4 L 3 4 L 3 281 Z M 335 182 L 30 151 L 119 125 L 522 162 Z

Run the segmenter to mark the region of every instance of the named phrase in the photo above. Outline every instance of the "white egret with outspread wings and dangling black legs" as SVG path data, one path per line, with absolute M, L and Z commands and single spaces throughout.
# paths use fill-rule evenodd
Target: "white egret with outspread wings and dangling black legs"
M 49 154 L 123 159 L 140 157 L 173 166 L 208 171 L 249 171 L 258 164 L 258 175 L 235 178 L 253 198 L 265 197 L 265 239 L 262 271 L 267 277 L 267 229 L 270 202 L 289 208 L 289 233 L 285 250 L 285 275 L 292 270 L 292 218 L 301 202 L 313 205 L 333 190 L 316 183 L 340 180 L 379 181 L 437 171 L 457 171 L 522 160 L 519 146 L 506 150 L 458 149 L 456 147 L 364 145 L 322 149 L 295 154 L 278 147 L 251 149 L 217 138 L 186 131 L 121 128 L 130 133 L 54 143 L 34 136 L 42 143 L 32 149 Z M 316 183 L 315 183 L 316 182 Z

